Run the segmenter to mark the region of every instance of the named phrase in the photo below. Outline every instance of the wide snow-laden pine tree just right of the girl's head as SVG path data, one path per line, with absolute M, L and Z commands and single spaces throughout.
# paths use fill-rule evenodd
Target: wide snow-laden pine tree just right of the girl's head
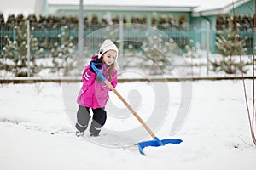
M 125 54 L 130 54 L 131 57 L 123 59 L 123 67 L 142 69 L 149 75 L 170 75 L 173 70 L 172 59 L 180 53 L 177 44 L 157 30 L 145 30 L 145 36 L 147 38 L 141 43 L 140 48 L 128 46 Z

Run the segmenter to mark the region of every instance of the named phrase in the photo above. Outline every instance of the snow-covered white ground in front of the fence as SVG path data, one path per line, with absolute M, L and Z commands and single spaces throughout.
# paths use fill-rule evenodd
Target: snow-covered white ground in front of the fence
M 246 82 L 251 104 L 252 81 Z M 168 98 L 158 96 L 156 88 L 162 85 L 168 88 Z M 155 86 L 148 82 L 119 83 L 117 90 L 143 119 L 154 114 L 162 116 L 154 111 L 167 107 L 158 130 L 154 129 L 160 139 L 183 139 L 181 144 L 145 148 L 147 156 L 140 155 L 135 145 L 139 133 L 134 133 L 135 136 L 128 133 L 140 127 L 139 122 L 125 111 L 113 93 L 101 136 L 91 139 L 88 133 L 84 138 L 74 135 L 79 86 L 79 83 L 64 86 L 51 82 L 1 85 L 0 169 L 241 170 L 256 167 L 256 147 L 249 133 L 241 81 L 192 82 L 189 116 L 172 135 L 173 119 L 183 107 L 180 82 L 157 82 Z

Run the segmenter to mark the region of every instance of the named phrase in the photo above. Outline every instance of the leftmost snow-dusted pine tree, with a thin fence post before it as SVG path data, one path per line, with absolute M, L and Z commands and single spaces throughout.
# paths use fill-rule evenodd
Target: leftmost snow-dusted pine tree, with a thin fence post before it
M 38 39 L 33 36 L 31 28 L 30 31 L 30 63 L 27 59 L 27 31 L 26 25 L 15 26 L 15 41 L 12 41 L 8 36 L 5 37 L 6 45 L 3 48 L 4 68 L 6 71 L 14 73 L 15 77 L 26 77 L 28 71 L 30 75 L 34 76 L 40 71 L 36 63 L 36 59 L 44 56 L 43 49 L 38 48 Z M 28 70 L 30 68 L 30 70 Z

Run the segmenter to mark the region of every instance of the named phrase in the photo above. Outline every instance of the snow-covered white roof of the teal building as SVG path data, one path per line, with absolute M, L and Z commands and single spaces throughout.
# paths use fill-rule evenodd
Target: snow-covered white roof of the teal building
M 190 11 L 196 15 L 218 14 L 236 6 L 247 3 L 249 0 L 84 0 L 84 8 L 123 9 L 123 10 L 172 10 Z M 49 6 L 64 5 L 77 6 L 79 0 L 48 0 Z M 116 8 L 119 7 L 119 8 Z M 210 13 L 209 13 L 210 12 Z

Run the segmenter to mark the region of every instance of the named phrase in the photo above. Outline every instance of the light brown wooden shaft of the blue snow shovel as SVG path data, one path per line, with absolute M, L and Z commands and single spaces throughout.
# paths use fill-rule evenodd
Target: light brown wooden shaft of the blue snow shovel
M 137 120 L 143 125 L 143 127 L 147 130 L 147 132 L 152 136 L 152 138 L 155 138 L 156 136 L 154 135 L 154 133 L 150 130 L 150 128 L 147 126 L 147 124 L 145 122 L 143 122 L 143 119 L 137 115 L 137 112 L 134 111 L 131 108 L 131 105 L 128 104 L 128 102 L 126 102 L 126 100 L 121 96 L 121 94 L 119 94 L 119 92 L 113 88 L 112 84 L 110 82 L 108 82 L 108 80 L 106 79 L 105 84 L 108 86 L 108 88 L 110 88 L 114 94 L 116 94 L 119 99 L 125 104 L 125 106 L 131 111 L 131 113 L 137 118 Z

